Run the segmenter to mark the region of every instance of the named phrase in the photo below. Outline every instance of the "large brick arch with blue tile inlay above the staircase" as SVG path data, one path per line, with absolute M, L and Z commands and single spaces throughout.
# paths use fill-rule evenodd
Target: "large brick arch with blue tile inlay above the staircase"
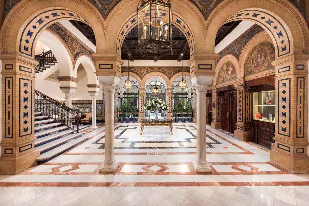
M 102 51 L 105 43 L 102 38 L 105 36 L 104 19 L 95 6 L 86 0 L 56 1 L 56 4 L 57 9 L 55 1 L 45 1 L 44 4 L 39 0 L 23 1 L 14 6 L 1 28 L 0 52 L 20 53 L 34 58 L 35 44 L 41 32 L 49 25 L 66 19 L 89 24 L 97 37 L 97 51 Z M 7 41 L 9 37 L 16 39 L 16 43 Z

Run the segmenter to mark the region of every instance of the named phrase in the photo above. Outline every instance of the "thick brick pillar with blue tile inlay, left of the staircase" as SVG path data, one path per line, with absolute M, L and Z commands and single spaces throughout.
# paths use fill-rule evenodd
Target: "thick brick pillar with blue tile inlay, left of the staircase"
M 34 149 L 34 67 L 30 58 L 0 55 L 2 61 L 2 141 L 0 174 L 18 174 L 36 164 Z

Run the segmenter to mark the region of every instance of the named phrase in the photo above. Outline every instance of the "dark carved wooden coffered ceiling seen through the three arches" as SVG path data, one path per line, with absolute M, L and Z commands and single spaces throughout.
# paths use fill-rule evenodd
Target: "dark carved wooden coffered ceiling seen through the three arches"
M 70 20 L 70 22 L 82 32 L 93 44 L 95 44 L 95 35 L 92 28 L 87 24 L 79 21 Z M 226 35 L 228 35 L 241 21 L 230 22 L 222 25 L 217 33 L 215 45 L 217 45 Z M 166 56 L 160 57 L 161 60 L 181 60 L 181 54 L 184 54 L 184 60 L 190 58 L 190 50 L 186 37 L 181 32 L 180 29 L 173 26 L 172 29 L 172 53 Z M 143 57 L 137 49 L 137 26 L 132 28 L 132 30 L 127 34 L 125 40 L 121 47 L 121 58 L 126 60 L 129 59 L 128 54 L 130 54 L 130 61 L 136 60 L 151 60 L 152 57 Z

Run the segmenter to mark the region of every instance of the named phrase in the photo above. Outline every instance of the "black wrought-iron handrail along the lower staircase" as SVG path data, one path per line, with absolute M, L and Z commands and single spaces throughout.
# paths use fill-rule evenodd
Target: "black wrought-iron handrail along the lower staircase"
M 78 133 L 80 124 L 79 109 L 74 110 L 61 102 L 35 90 L 35 110 L 49 116 L 56 122 L 66 125 Z

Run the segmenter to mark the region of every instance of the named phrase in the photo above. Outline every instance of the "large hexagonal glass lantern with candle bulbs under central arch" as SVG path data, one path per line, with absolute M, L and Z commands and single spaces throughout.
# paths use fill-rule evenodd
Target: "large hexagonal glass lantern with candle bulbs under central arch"
M 141 0 L 137 5 L 138 50 L 143 56 L 160 56 L 172 52 L 171 0 Z

